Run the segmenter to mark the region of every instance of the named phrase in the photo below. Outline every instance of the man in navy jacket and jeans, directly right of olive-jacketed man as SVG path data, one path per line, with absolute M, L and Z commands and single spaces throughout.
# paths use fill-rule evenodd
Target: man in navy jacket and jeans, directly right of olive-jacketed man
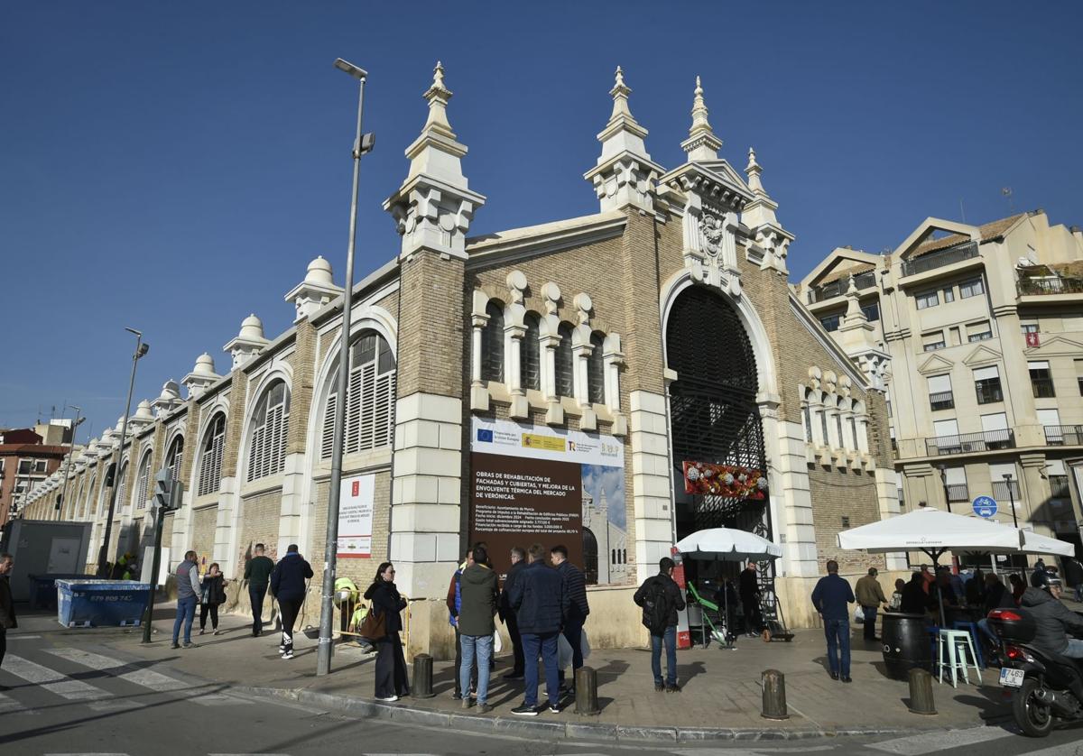
M 522 706 L 511 709 L 524 717 L 537 716 L 538 654 L 545 665 L 549 711 L 560 713 L 560 679 L 557 675 L 557 636 L 569 612 L 571 598 L 564 592 L 560 573 L 545 563 L 545 547 L 534 544 L 526 551 L 523 568 L 508 594 L 508 602 L 519 621 L 523 639 L 526 685 Z

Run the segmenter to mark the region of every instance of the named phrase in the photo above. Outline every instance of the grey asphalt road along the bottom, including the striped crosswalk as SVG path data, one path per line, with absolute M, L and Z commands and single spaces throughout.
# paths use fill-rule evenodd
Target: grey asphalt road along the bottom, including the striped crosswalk
M 615 744 L 530 740 L 436 730 L 353 717 L 280 700 L 249 698 L 134 661 L 102 636 L 9 634 L 0 667 L 0 753 L 18 756 L 199 756 L 248 754 L 963 754 L 1083 756 L 1083 727 L 1029 740 L 1003 727 L 906 737 L 792 742 Z M 871 722 L 864 722 L 871 724 Z

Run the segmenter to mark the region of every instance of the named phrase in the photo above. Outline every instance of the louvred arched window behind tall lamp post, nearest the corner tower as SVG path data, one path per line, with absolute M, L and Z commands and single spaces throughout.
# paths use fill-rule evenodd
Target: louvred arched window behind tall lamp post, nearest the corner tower
M 319 457 L 330 459 L 338 405 L 338 361 L 331 368 L 334 388 L 324 409 Z M 366 331 L 350 347 L 344 454 L 388 446 L 394 440 L 395 355 L 379 334 Z

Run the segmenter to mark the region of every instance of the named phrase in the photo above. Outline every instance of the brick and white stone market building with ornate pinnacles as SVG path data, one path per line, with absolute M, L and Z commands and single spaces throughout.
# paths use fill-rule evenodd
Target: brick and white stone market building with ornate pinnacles
M 835 534 L 898 512 L 883 366 L 849 359 L 791 290 L 793 235 L 749 149 L 719 157 L 696 80 L 687 160 L 647 151 L 617 69 L 597 212 L 470 237 L 485 197 L 462 173 L 438 64 L 409 170 L 386 200 L 399 255 L 355 285 L 350 382 L 336 395 L 342 289 L 317 258 L 276 338 L 255 315 L 181 383 L 74 460 L 64 519 L 95 523 L 119 486 L 110 555 L 149 535 L 155 471 L 185 484 L 173 555 L 239 574 L 256 543 L 297 543 L 319 571 L 335 405 L 347 402 L 339 575 L 390 559 L 414 599 L 413 652 L 446 653 L 443 599 L 467 545 L 563 543 L 595 585 L 599 647 L 642 642 L 631 602 L 682 535 L 758 532 L 783 549 L 770 589 L 794 625 Z M 48 499 L 43 496 L 41 501 Z M 36 517 L 35 503 L 26 517 Z M 48 516 L 44 510 L 42 516 Z M 313 591 L 317 591 L 313 587 Z M 310 601 L 310 605 L 316 605 Z M 312 621 L 314 624 L 314 620 Z

